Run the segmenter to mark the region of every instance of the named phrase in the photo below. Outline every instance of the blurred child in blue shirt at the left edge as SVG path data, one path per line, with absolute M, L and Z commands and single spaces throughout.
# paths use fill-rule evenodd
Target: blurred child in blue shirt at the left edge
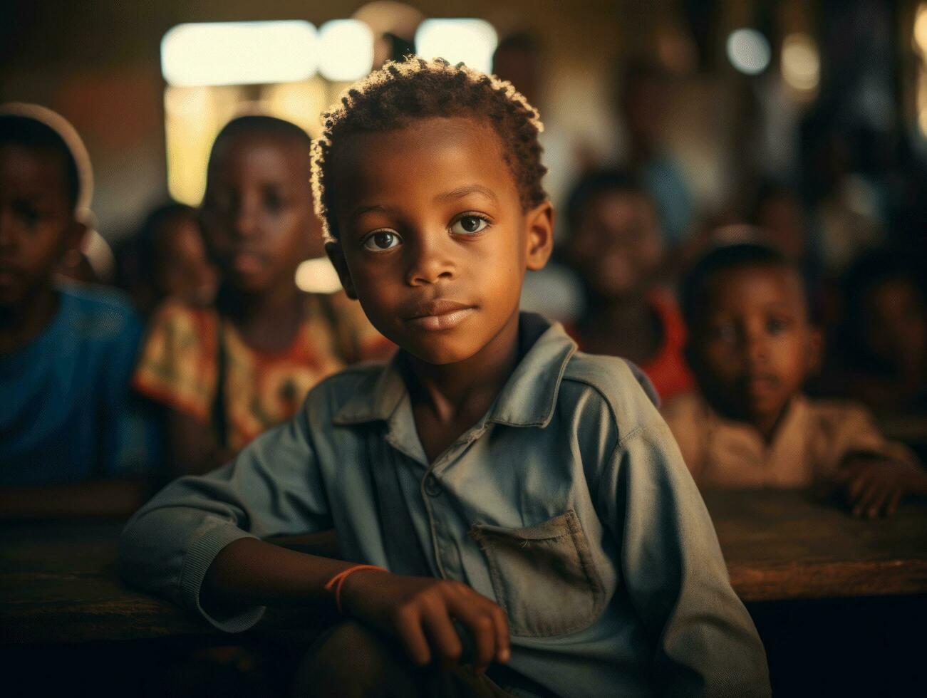
M 0 517 L 144 501 L 148 435 L 129 397 L 141 325 L 115 294 L 56 278 L 86 233 L 82 152 L 57 115 L 0 110 Z

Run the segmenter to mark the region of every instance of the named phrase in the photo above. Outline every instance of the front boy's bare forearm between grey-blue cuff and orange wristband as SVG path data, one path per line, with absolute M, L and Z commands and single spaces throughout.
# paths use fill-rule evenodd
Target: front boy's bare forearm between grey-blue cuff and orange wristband
M 200 590 L 210 613 L 249 605 L 303 605 L 330 598 L 325 583 L 354 563 L 287 550 L 258 539 L 229 543 L 213 560 Z

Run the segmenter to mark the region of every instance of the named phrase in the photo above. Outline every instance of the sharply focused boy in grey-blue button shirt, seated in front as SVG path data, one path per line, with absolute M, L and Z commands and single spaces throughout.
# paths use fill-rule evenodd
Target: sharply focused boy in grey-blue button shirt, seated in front
M 400 352 L 161 492 L 123 533 L 125 577 L 227 630 L 264 604 L 336 603 L 352 620 L 307 657 L 315 695 L 767 695 L 645 379 L 519 315 L 552 246 L 534 109 L 411 58 L 324 122 L 328 252 Z M 343 561 L 261 541 L 331 526 Z M 462 636 L 476 672 L 456 666 Z

